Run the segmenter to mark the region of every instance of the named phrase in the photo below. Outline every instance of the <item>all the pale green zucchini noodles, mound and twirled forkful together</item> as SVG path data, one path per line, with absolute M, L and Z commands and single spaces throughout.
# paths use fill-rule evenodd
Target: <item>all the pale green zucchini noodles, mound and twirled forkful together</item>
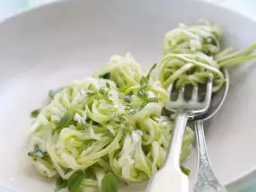
M 115 192 L 114 177 L 147 180 L 163 165 L 172 137 L 173 121 L 161 113 L 170 84 L 206 84 L 213 75 L 216 92 L 224 84 L 222 67 L 255 58 L 256 45 L 220 52 L 220 37 L 207 21 L 180 25 L 166 33 L 164 56 L 148 74 L 131 55 L 113 55 L 92 77 L 51 90 L 49 105 L 32 113 L 28 154 L 38 172 L 58 177 L 55 190 L 69 192 L 105 192 L 108 183 Z M 181 161 L 193 141 L 187 127 Z

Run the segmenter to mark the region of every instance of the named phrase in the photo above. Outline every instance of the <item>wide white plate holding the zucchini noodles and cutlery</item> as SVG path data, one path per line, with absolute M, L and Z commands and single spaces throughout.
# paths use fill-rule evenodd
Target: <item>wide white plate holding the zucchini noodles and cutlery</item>
M 50 88 L 88 76 L 111 55 L 127 51 L 146 68 L 160 61 L 165 32 L 180 21 L 193 24 L 199 18 L 224 28 L 225 45 L 242 49 L 256 42 L 253 20 L 190 1 L 66 1 L 4 21 L 0 25 L 0 185 L 19 192 L 53 191 L 54 185 L 38 177 L 26 156 L 29 113 L 40 107 Z M 230 73 L 227 101 L 207 124 L 212 166 L 222 183 L 256 165 L 256 71 L 247 64 Z M 194 159 L 188 162 L 192 168 Z

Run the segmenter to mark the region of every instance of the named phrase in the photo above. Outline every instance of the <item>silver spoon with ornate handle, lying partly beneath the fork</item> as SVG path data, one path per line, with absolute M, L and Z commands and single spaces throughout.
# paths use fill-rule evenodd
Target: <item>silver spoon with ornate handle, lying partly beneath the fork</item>
M 228 71 L 223 68 L 225 84 L 224 87 L 212 96 L 211 106 L 206 114 L 195 120 L 195 135 L 197 140 L 197 176 L 194 186 L 194 192 L 224 192 L 224 186 L 218 182 L 218 178 L 212 171 L 210 159 L 207 154 L 207 143 L 204 134 L 203 123 L 212 118 L 228 95 L 230 87 L 230 78 Z

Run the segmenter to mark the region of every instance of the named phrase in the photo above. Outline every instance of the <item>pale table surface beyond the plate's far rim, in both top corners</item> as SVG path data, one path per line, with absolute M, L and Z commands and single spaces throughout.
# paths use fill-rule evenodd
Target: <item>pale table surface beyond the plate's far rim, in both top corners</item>
M 22 9 L 28 9 L 44 3 L 54 2 L 56 0 L 0 0 L 0 20 L 10 15 L 14 15 Z M 189 0 L 188 0 L 189 1 Z M 247 15 L 256 20 L 256 0 L 205 0 L 211 3 L 217 3 L 220 6 L 236 10 L 243 15 Z

